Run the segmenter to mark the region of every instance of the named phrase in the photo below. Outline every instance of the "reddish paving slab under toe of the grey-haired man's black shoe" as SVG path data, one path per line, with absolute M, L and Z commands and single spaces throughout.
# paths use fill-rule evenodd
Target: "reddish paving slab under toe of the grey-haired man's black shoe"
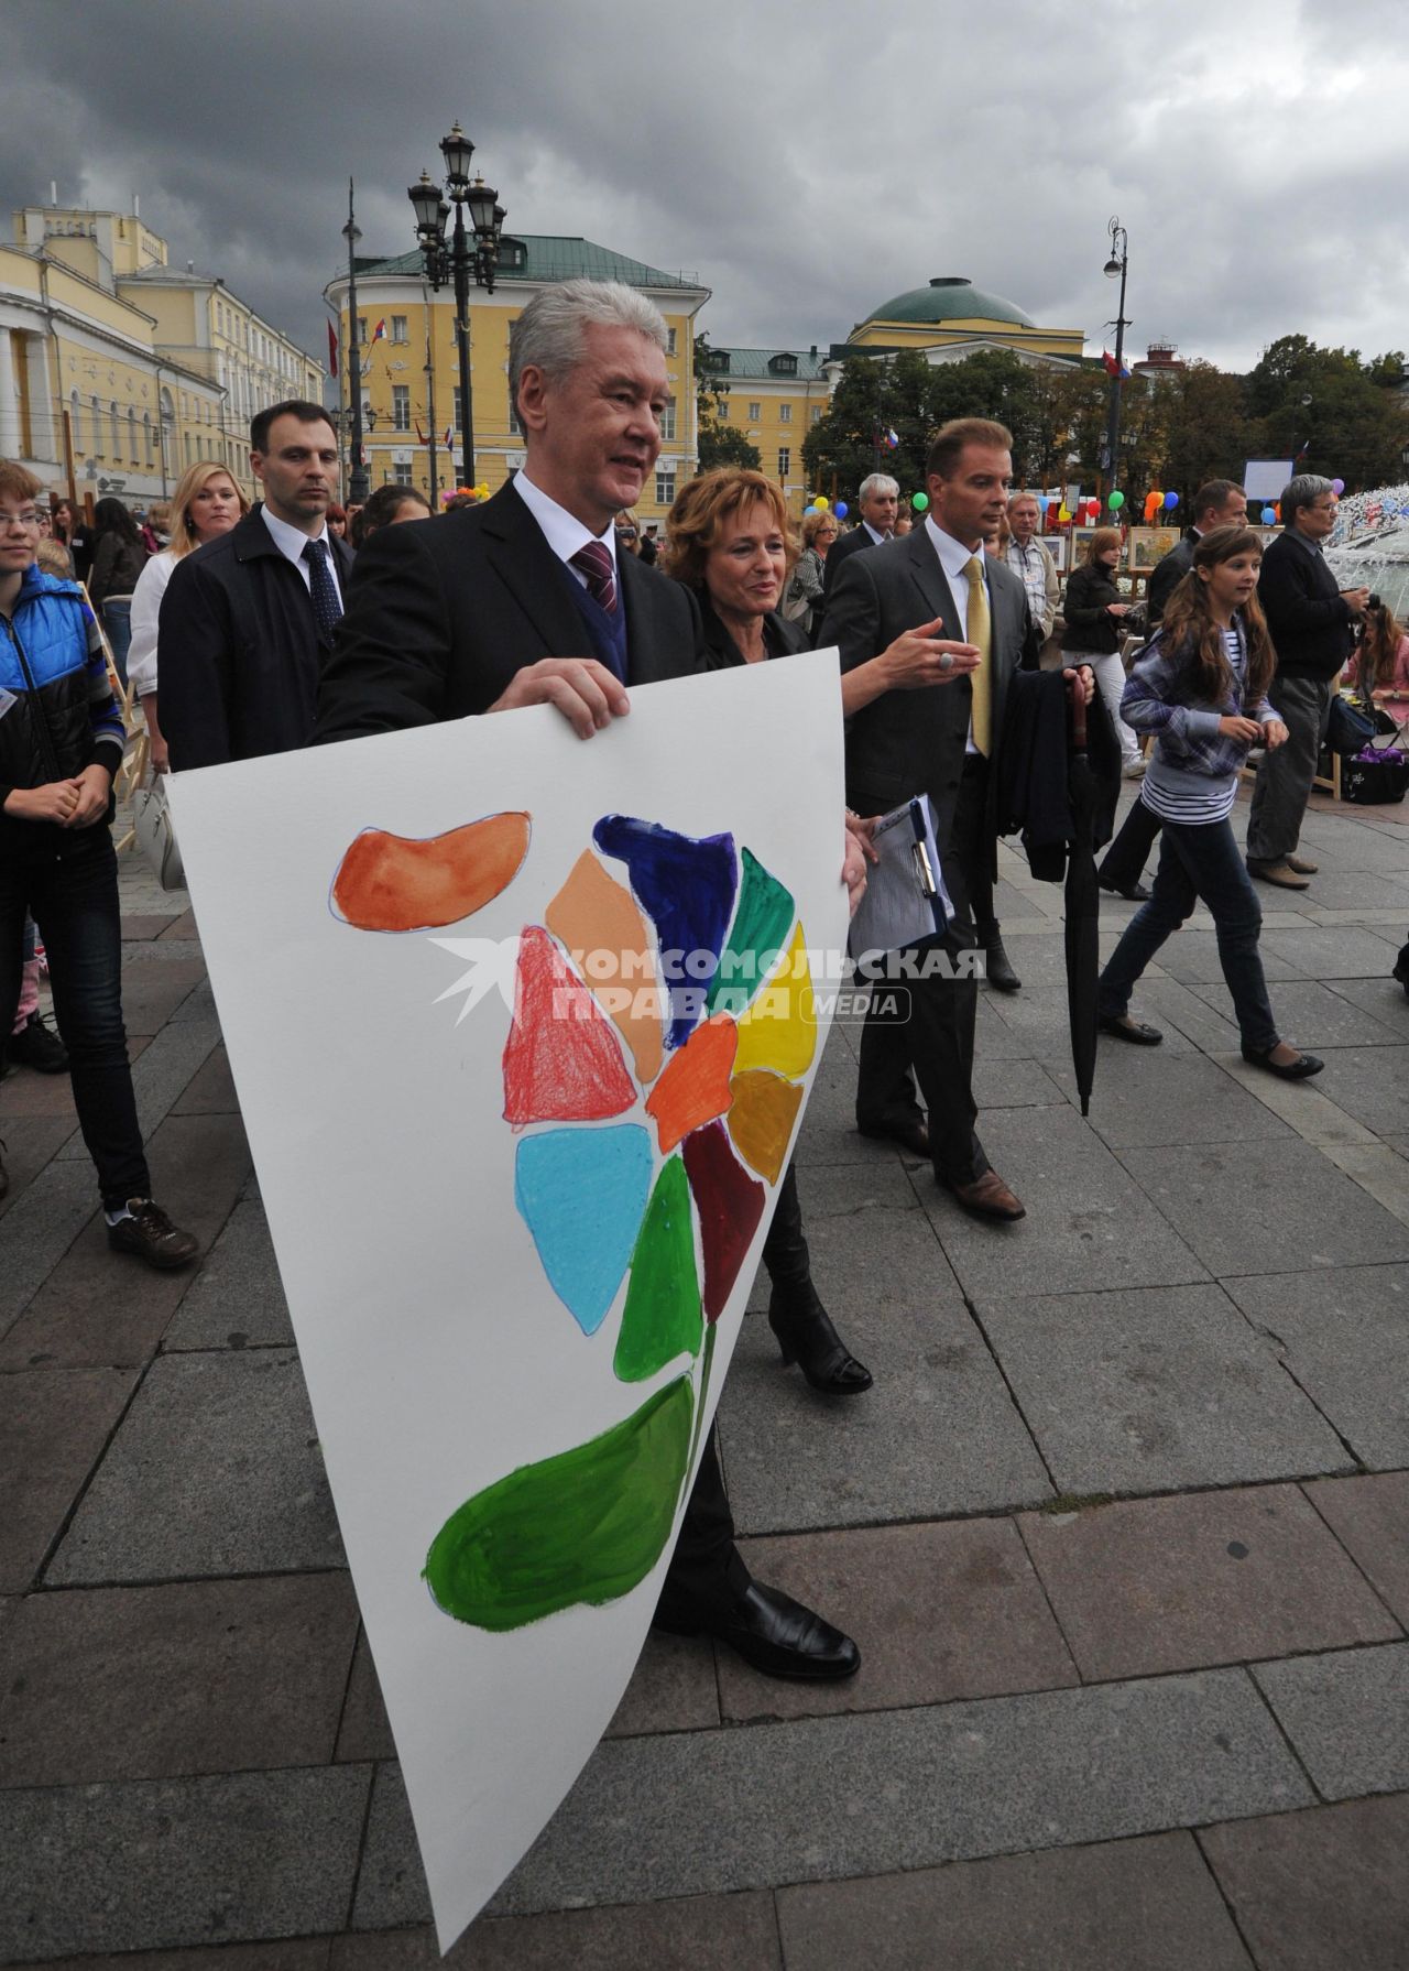
M 1011 1520 L 747 1539 L 741 1551 L 755 1579 L 855 1636 L 861 1669 L 845 1683 L 788 1683 L 719 1650 L 725 1719 L 891 1711 L 1078 1681 Z

